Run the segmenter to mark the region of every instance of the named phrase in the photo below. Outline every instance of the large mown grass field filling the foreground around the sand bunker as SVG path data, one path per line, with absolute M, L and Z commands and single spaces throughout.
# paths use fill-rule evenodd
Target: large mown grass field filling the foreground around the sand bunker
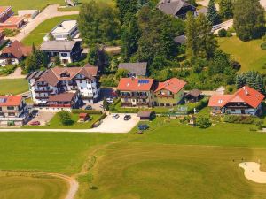
M 266 171 L 266 134 L 165 119 L 145 134 L 0 134 L 0 170 L 78 173 L 95 157 L 77 178 L 79 199 L 265 198 L 266 185 L 246 180 L 238 164 L 260 159 Z

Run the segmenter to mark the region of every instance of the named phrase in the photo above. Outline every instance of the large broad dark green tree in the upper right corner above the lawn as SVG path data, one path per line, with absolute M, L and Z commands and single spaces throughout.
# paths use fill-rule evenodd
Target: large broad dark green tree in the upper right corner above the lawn
M 265 13 L 259 0 L 237 0 L 234 28 L 240 40 L 249 41 L 265 34 Z

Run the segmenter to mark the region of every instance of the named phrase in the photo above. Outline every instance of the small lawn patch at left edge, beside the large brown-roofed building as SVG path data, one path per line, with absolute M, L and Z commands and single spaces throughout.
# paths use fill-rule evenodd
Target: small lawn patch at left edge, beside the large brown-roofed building
M 28 84 L 25 79 L 0 80 L 0 95 L 16 95 L 26 92 L 27 90 Z

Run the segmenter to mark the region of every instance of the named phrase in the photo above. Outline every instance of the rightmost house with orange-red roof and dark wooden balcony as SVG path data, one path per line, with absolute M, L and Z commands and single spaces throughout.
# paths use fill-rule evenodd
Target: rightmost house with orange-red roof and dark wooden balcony
M 213 114 L 260 115 L 264 96 L 250 87 L 239 88 L 233 95 L 214 95 L 208 106 Z

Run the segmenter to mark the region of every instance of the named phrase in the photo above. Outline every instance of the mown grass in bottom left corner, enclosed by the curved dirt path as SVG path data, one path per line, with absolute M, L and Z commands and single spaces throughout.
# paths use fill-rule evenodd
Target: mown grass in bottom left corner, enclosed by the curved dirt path
M 68 185 L 64 180 L 56 178 L 2 176 L 0 180 L 0 198 L 63 199 L 67 188 Z

